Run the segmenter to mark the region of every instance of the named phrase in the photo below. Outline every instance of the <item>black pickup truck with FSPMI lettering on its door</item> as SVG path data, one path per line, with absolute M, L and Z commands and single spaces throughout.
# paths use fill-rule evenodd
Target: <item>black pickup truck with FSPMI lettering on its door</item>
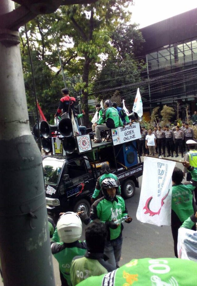
M 92 143 L 91 152 L 46 157 L 43 171 L 48 215 L 56 220 L 61 212 L 89 213 L 90 198 L 101 175 L 101 165 L 106 161 L 119 178 L 122 196 L 132 197 L 135 188 L 139 188 L 138 177 L 143 173 L 143 163 L 137 157 L 134 143 L 118 147 L 111 142 Z

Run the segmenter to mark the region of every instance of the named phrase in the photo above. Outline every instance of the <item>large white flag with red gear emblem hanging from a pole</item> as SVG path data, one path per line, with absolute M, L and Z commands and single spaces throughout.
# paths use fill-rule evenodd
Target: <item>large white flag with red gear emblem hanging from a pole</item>
M 171 225 L 172 172 L 175 162 L 144 158 L 142 188 L 136 217 L 157 226 Z

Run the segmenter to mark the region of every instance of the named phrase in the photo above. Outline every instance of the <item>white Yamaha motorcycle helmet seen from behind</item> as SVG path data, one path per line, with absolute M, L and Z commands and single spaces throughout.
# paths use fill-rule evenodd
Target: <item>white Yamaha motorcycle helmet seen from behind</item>
M 74 212 L 64 213 L 57 223 L 58 236 L 62 242 L 71 243 L 78 240 L 82 234 L 82 222 Z

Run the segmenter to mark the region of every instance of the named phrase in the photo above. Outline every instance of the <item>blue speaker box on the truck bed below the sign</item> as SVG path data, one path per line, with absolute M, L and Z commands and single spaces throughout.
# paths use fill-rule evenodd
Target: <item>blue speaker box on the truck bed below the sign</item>
M 136 147 L 136 141 L 132 141 L 132 144 Z M 126 167 L 138 164 L 137 150 L 132 146 L 132 144 L 131 142 L 127 142 L 123 143 L 122 146 L 115 146 L 115 154 L 118 154 L 116 160 Z

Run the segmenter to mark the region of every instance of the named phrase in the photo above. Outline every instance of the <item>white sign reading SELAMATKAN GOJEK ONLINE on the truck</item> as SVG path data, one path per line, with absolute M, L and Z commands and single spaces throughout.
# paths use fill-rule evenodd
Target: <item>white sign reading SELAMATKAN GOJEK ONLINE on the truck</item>
M 125 128 L 118 127 L 111 129 L 112 141 L 114 145 L 126 143 L 141 138 L 139 123 L 135 122 L 126 125 Z

